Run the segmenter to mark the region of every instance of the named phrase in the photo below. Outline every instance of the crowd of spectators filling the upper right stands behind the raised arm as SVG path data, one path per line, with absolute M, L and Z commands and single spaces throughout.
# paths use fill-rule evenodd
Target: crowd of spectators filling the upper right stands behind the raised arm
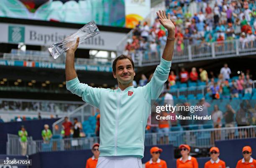
M 255 47 L 256 5 L 254 0 L 197 0 L 198 13 L 191 13 L 187 1 L 166 0 L 166 13 L 176 27 L 175 52 L 181 55 L 187 46 L 200 44 L 202 47 L 217 43 L 224 50 L 221 41 L 239 39 L 242 48 Z M 211 6 L 210 4 L 214 4 Z M 125 46 L 125 54 L 134 59 L 136 51 L 147 52 L 148 59 L 156 58 L 158 49 L 166 42 L 166 30 L 158 18 L 149 25 L 139 22 L 133 29 L 133 36 Z M 233 47 L 230 43 L 227 47 Z

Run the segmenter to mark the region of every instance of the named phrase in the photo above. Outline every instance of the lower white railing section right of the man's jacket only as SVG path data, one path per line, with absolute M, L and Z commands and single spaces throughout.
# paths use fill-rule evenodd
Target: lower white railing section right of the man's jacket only
M 161 137 L 164 137 L 164 134 L 148 133 L 145 135 L 145 145 L 171 144 L 177 147 L 180 144 L 187 144 L 198 148 L 209 148 L 214 146 L 215 140 L 235 140 L 256 137 L 256 125 L 171 131 L 168 133 L 168 142 L 165 142 L 166 137 L 164 137 L 162 143 Z

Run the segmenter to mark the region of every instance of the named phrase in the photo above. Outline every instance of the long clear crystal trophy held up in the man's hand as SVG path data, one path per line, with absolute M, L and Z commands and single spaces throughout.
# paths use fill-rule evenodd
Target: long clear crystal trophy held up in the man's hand
M 77 42 L 77 38 L 79 37 L 79 43 L 82 43 L 86 39 L 96 36 L 100 33 L 100 30 L 97 28 L 94 20 L 90 21 L 84 27 L 80 28 L 76 33 L 71 36 L 65 38 L 63 41 L 59 43 L 54 43 L 48 50 L 54 59 L 58 58 L 62 53 L 67 51 L 71 46 L 73 46 Z

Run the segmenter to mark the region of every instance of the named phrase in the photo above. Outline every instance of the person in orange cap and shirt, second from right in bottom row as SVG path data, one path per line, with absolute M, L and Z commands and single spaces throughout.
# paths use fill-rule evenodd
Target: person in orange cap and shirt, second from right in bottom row
M 205 168 L 226 168 L 226 163 L 219 158 L 220 150 L 217 147 L 210 148 L 211 160 L 205 163 Z

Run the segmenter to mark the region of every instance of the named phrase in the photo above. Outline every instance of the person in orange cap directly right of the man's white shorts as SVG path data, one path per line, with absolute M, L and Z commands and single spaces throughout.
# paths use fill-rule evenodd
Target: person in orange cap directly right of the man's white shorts
M 159 158 L 162 151 L 161 148 L 152 147 L 150 149 L 152 158 L 145 164 L 145 168 L 167 168 L 166 162 Z

